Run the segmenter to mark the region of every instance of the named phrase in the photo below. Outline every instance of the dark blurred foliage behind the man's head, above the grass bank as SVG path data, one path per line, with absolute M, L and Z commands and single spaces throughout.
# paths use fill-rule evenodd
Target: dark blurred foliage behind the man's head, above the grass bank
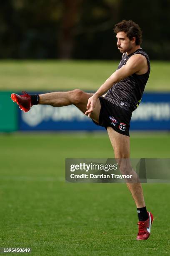
M 143 30 L 150 59 L 170 59 L 169 0 L 1 0 L 1 59 L 119 59 L 115 23 Z

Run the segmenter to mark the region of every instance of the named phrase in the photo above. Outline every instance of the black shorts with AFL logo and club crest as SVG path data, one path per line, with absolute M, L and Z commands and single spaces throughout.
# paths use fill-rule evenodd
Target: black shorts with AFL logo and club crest
M 130 119 L 132 112 L 127 111 L 119 106 L 105 100 L 104 97 L 99 97 L 101 110 L 99 115 L 99 123 L 93 121 L 96 125 L 103 126 L 107 129 L 112 127 L 117 133 L 129 136 Z

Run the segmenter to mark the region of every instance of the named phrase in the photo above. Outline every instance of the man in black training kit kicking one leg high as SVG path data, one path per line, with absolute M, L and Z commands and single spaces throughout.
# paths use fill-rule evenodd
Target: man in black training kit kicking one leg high
M 115 25 L 114 32 L 117 37 L 117 47 L 123 54 L 122 60 L 117 70 L 94 94 L 79 89 L 41 95 L 29 95 L 23 92 L 23 95 L 13 93 L 11 99 L 25 112 L 29 111 L 32 105 L 37 104 L 53 107 L 75 105 L 97 125 L 107 129 L 115 158 L 129 159 L 130 119 L 142 99 L 150 74 L 150 61 L 148 54 L 140 47 L 142 32 L 138 24 L 132 20 L 122 20 Z M 153 215 L 146 210 L 140 182 L 127 183 L 127 186 L 138 212 L 139 231 L 136 239 L 146 240 L 150 236 Z

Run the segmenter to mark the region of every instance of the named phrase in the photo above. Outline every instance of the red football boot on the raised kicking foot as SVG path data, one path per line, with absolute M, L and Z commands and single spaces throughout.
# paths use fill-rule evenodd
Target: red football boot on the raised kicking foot
M 29 95 L 27 92 L 22 92 L 22 93 L 23 95 L 12 93 L 11 99 L 13 100 L 13 102 L 16 102 L 19 105 L 21 110 L 28 112 L 32 107 L 31 95 Z

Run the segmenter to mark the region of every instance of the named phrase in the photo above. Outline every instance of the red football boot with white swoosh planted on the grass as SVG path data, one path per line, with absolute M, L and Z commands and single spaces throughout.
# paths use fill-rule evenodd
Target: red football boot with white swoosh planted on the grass
M 150 236 L 151 225 L 153 224 L 153 215 L 151 212 L 148 212 L 148 220 L 139 221 L 139 232 L 136 240 L 147 240 Z

